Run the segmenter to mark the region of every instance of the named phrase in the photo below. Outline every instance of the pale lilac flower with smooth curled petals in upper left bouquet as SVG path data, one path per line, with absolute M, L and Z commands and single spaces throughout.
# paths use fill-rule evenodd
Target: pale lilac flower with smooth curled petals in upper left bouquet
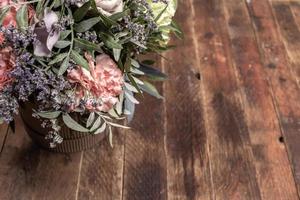
M 34 44 L 34 55 L 50 56 L 55 43 L 59 39 L 60 30 L 55 28 L 58 16 L 55 12 L 45 10 L 42 21 L 35 24 L 34 33 L 36 42 Z

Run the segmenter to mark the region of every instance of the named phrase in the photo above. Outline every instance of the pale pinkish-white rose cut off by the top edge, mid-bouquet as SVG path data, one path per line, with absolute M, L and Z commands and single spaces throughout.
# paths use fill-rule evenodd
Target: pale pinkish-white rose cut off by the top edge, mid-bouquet
M 124 7 L 123 0 L 96 0 L 95 2 L 98 10 L 106 16 L 122 12 Z

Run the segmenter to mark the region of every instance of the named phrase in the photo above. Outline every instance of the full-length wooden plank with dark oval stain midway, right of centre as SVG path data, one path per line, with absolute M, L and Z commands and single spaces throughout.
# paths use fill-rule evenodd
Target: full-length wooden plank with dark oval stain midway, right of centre
M 261 199 L 249 127 L 232 68 L 223 2 L 194 2 L 213 199 Z M 229 5 L 227 5 L 229 6 Z M 231 6 L 231 5 L 230 5 Z

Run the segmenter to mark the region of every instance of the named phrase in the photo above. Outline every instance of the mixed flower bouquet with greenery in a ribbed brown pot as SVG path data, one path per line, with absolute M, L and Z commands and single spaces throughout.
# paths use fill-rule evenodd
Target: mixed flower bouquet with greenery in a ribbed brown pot
M 139 55 L 168 50 L 176 0 L 0 1 L 0 123 L 20 113 L 43 147 L 91 147 L 132 120 L 166 75 Z

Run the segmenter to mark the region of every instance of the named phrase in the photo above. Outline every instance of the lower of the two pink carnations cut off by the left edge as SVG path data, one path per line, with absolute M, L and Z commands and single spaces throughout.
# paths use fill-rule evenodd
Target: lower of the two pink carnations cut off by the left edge
M 12 49 L 0 49 L 0 91 L 12 81 L 9 72 L 11 72 L 14 65 L 15 57 L 12 54 Z

